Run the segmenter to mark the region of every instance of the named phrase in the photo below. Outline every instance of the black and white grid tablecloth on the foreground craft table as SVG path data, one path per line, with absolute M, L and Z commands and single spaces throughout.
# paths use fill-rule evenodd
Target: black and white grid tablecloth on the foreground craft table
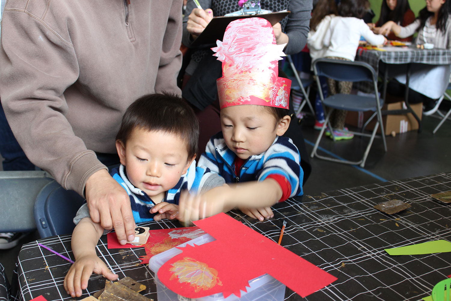
M 230 214 L 274 241 L 285 220 L 282 245 L 338 278 L 305 300 L 417 301 L 451 274 L 451 253 L 390 256 L 384 248 L 437 239 L 451 241 L 451 205 L 430 197 L 449 190 L 451 173 L 442 173 L 305 196 L 302 202 L 289 199 L 275 205 L 274 218 L 266 222 L 237 212 Z M 373 208 L 390 199 L 405 200 L 411 207 L 394 215 Z M 153 229 L 179 227 L 169 221 L 149 225 Z M 40 242 L 74 258 L 70 236 Z M 104 236 L 97 252 L 120 278 L 129 276 L 143 283 L 147 286 L 145 295 L 156 299 L 153 275 L 139 264 L 143 248 L 108 250 Z M 23 245 L 18 258 L 22 299 L 43 295 L 48 301 L 73 300 L 63 288 L 69 266 L 64 259 L 39 248 L 37 242 Z M 87 292 L 92 294 L 104 284 L 104 278 L 92 276 Z M 285 300 L 303 299 L 287 288 Z

